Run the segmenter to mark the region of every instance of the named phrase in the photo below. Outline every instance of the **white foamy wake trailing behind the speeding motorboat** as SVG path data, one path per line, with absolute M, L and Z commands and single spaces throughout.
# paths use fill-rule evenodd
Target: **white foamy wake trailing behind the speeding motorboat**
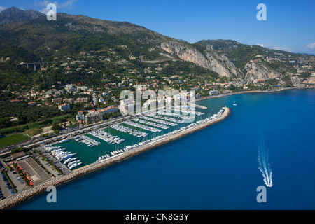
M 259 129 L 259 142 L 258 142 L 258 162 L 259 169 L 264 177 L 264 182 L 267 187 L 272 187 L 272 169 L 268 162 L 268 151 L 265 147 L 265 139 L 262 129 Z

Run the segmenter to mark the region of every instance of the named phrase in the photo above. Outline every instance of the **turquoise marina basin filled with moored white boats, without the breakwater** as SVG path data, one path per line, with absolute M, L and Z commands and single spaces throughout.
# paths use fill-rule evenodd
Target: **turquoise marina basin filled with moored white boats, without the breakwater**
M 62 146 L 66 145 L 63 144 L 60 144 L 59 146 L 46 146 L 46 151 L 54 150 L 54 153 L 59 152 L 59 154 L 56 154 L 57 159 L 63 159 L 65 161 L 64 165 L 69 167 L 69 169 L 73 169 L 74 167 L 78 167 L 79 163 L 80 165 L 87 165 L 92 164 L 92 162 L 95 161 L 106 160 L 113 156 L 120 155 L 125 151 L 130 151 L 155 141 L 160 141 L 161 139 L 172 136 L 172 134 L 178 134 L 189 128 L 195 127 L 196 125 L 216 120 L 222 116 L 223 111 L 224 110 L 221 109 L 216 114 L 209 113 L 208 118 L 204 118 L 203 112 L 196 111 L 195 114 L 199 115 L 196 117 L 198 119 L 196 119 L 194 123 L 185 123 L 184 120 L 188 118 L 183 114 L 185 111 L 177 109 L 165 110 L 165 112 L 159 114 L 148 113 L 145 116 L 125 120 L 107 128 L 100 127 L 90 132 L 86 132 L 86 134 L 79 134 L 76 137 L 73 137 L 72 140 L 68 139 L 68 141 L 95 147 L 93 151 L 88 151 L 88 155 L 85 155 L 86 146 L 79 147 L 79 151 L 79 148 L 76 147 L 76 152 L 80 154 L 76 156 L 78 156 L 81 161 L 76 161 L 77 158 L 74 160 L 73 153 L 65 152 L 65 148 Z M 172 127 L 172 129 L 170 129 L 170 127 Z M 134 137 L 136 139 L 134 139 Z M 98 139 L 106 141 L 107 143 L 106 146 L 102 146 L 102 149 L 98 147 L 102 145 L 102 141 L 99 141 Z

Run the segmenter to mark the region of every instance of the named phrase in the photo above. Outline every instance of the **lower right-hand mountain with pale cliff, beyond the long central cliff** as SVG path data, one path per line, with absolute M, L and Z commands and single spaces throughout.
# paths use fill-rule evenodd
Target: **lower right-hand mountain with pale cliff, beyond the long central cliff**
M 232 40 L 202 40 L 196 48 L 211 45 L 220 55 L 225 55 L 244 74 L 244 80 L 281 79 L 293 76 L 302 64 L 314 66 L 315 57 L 281 50 L 246 45 Z M 302 66 L 301 66 L 302 67 Z

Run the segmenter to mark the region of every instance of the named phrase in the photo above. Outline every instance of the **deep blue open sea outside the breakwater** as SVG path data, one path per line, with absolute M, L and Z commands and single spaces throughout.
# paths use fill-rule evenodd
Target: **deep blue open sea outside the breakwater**
M 226 105 L 232 112 L 220 123 L 58 186 L 56 203 L 43 193 L 13 209 L 315 209 L 315 89 L 198 104 L 211 111 Z M 266 202 L 257 201 L 258 186 L 266 187 Z

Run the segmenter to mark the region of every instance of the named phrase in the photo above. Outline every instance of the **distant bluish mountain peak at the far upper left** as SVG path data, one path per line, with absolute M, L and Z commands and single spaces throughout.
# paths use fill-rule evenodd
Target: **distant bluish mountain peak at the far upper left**
M 45 14 L 36 10 L 20 10 L 15 7 L 7 8 L 0 13 L 0 25 L 10 24 L 14 22 L 31 21 L 36 18 L 43 18 Z

